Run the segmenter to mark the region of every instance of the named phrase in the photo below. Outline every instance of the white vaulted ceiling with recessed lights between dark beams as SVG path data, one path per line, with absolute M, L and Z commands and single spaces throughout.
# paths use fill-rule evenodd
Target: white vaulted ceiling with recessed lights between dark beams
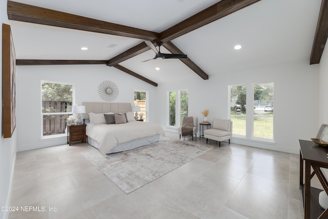
M 15 1 L 15 0 L 14 0 Z M 217 3 L 215 0 L 19 0 L 111 23 L 162 32 Z M 211 75 L 305 60 L 310 54 L 321 0 L 262 0 L 216 22 L 173 39 L 196 65 Z M 10 21 L 17 59 L 108 60 L 142 39 Z M 240 50 L 234 46 L 240 44 Z M 111 45 L 117 45 L 112 47 Z M 80 50 L 86 46 L 86 51 Z M 165 48 L 161 52 L 169 53 Z M 149 61 L 152 50 L 124 66 L 156 83 L 198 78 L 178 59 Z M 160 67 L 159 71 L 155 67 Z M 110 68 L 110 67 L 109 67 Z

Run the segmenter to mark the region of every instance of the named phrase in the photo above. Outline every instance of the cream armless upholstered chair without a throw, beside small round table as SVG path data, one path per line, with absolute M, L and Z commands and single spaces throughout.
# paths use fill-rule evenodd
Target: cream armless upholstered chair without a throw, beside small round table
M 209 139 L 218 141 L 219 147 L 221 147 L 222 141 L 229 140 L 230 144 L 230 139 L 232 138 L 232 121 L 214 118 L 212 128 L 204 130 L 204 138 L 206 138 L 206 143 L 208 143 Z

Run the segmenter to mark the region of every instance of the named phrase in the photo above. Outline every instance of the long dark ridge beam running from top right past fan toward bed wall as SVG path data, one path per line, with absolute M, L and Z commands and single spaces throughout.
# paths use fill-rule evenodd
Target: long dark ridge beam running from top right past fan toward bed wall
M 160 37 L 155 41 L 166 43 L 178 36 L 189 33 L 197 28 L 214 22 L 221 17 L 227 16 L 235 11 L 238 11 L 259 1 L 260 0 L 221 0 L 220 2 L 208 7 L 207 9 L 185 19 L 185 21 L 182 21 L 177 25 L 174 25 L 161 32 Z M 135 47 L 132 47 L 131 49 L 111 58 L 108 61 L 109 66 L 113 66 L 126 61 L 127 59 L 147 51 L 148 49 L 149 47 L 146 44 L 139 44 Z M 133 51 L 133 53 L 130 54 L 129 52 L 131 51 Z M 127 56 L 128 54 L 130 55 Z

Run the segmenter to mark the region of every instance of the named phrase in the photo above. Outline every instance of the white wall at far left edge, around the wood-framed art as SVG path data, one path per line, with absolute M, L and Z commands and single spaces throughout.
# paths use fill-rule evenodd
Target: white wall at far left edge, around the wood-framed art
M 7 17 L 7 1 L 0 0 L 0 19 L 1 24 L 9 24 Z M 2 26 L 2 25 L 1 25 Z M 1 27 L 2 30 L 2 27 Z M 2 32 L 0 34 L 0 42 L 2 42 Z M 2 51 L 2 43 L 0 44 L 0 51 Z M 2 52 L 0 53 L 0 60 L 2 60 Z M 0 69 L 2 69 L 2 62 L 0 62 Z M 2 85 L 2 77 L 0 77 L 0 84 Z M 2 89 L 0 89 L 0 96 L 2 96 Z M 0 107 L 0 117 L 2 121 L 2 107 Z M 2 126 L 0 126 L 2 133 Z M 11 197 L 11 188 L 14 172 L 14 164 L 16 160 L 16 131 L 14 131 L 11 138 L 0 139 L 0 206 L 9 206 Z M 7 218 L 8 212 L 0 211 L 0 218 Z

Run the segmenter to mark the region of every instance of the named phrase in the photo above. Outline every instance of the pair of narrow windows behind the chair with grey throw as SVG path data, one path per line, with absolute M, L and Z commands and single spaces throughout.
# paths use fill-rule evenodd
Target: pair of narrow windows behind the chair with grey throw
M 177 93 L 177 95 L 176 95 Z M 183 116 L 188 116 L 188 90 L 170 91 L 169 94 L 169 126 L 181 126 Z M 178 101 L 177 101 L 178 100 Z M 178 115 L 176 115 L 178 114 Z

